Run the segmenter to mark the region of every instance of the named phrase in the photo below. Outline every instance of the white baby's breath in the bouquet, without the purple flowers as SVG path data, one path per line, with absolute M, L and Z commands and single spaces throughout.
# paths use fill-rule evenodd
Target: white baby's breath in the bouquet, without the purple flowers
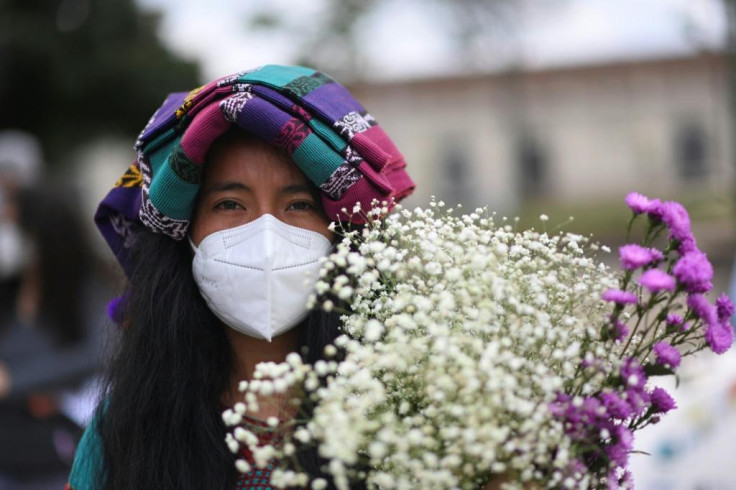
M 616 277 L 586 255 L 582 236 L 506 223 L 483 209 L 455 216 L 433 201 L 347 233 L 317 283 L 333 299 L 316 302 L 325 311 L 349 305 L 346 335 L 325 349 L 341 360 L 309 366 L 293 355 L 241 384 L 262 395 L 304 388 L 313 414 L 294 423 L 288 444 L 316 445 L 338 489 L 360 472 L 383 489 L 479 488 L 494 473 L 542 488 L 569 483 L 572 443 L 549 405 L 584 358 L 616 362 L 616 353 L 589 352 L 606 311 L 601 294 Z M 242 408 L 223 420 L 237 425 Z M 284 456 L 234 434 L 228 445 L 246 444 L 259 466 Z M 295 482 L 310 485 L 291 469 L 272 478 Z

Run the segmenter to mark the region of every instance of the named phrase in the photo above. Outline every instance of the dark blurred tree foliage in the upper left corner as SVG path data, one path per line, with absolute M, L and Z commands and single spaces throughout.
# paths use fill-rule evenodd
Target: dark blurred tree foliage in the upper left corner
M 198 67 L 159 41 L 159 16 L 132 0 L 5 0 L 0 6 L 0 129 L 36 134 L 57 161 L 109 133 L 129 137 L 161 94 Z

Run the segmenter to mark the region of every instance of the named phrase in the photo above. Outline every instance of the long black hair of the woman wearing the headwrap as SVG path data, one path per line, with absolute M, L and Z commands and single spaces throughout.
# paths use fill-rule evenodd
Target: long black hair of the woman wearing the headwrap
M 140 232 L 121 329 L 98 409 L 106 490 L 231 490 L 235 457 L 224 438 L 221 399 L 233 353 L 192 277 L 186 240 Z M 314 311 L 302 328 L 314 362 L 338 335 L 335 314 Z M 300 456 L 317 474 L 315 451 Z

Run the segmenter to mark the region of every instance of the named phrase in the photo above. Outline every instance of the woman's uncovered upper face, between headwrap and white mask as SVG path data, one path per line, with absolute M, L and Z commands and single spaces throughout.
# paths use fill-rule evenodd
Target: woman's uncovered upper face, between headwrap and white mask
M 198 246 L 214 232 L 264 214 L 334 239 L 315 187 L 286 153 L 252 137 L 216 142 L 192 218 L 192 241 Z

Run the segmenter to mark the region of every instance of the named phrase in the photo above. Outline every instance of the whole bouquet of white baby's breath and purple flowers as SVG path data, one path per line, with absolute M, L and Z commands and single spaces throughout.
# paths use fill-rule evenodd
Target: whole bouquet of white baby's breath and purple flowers
M 338 230 L 314 298 L 343 313 L 344 334 L 328 361 L 291 354 L 241 383 L 244 403 L 223 415 L 231 449 L 265 466 L 317 446 L 339 489 L 632 488 L 635 432 L 675 408 L 648 380 L 726 351 L 734 307 L 706 298 L 713 268 L 682 205 L 626 201 L 643 238 L 620 248 L 620 272 L 587 238 L 483 209 L 354 209 L 368 223 Z M 241 416 L 289 389 L 310 417 L 259 443 Z M 326 487 L 294 464 L 272 484 Z

